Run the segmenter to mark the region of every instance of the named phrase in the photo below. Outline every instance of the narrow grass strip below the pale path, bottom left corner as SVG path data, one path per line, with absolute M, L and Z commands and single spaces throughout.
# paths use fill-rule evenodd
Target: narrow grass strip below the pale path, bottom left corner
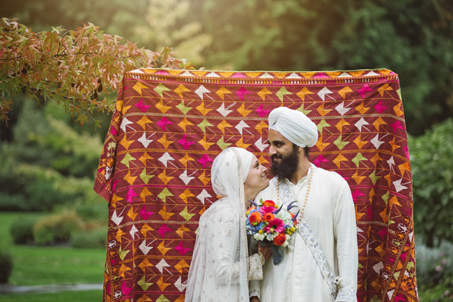
M 91 302 L 102 301 L 102 290 L 84 292 L 59 292 L 55 294 L 5 294 L 0 302 Z

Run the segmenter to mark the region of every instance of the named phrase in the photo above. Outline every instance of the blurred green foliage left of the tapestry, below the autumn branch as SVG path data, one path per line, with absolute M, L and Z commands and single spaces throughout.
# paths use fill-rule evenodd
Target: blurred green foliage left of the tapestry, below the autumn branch
M 16 104 L 13 138 L 0 142 L 0 211 L 105 205 L 93 191 L 100 135 L 77 133 L 53 103 L 36 107 L 22 96 Z

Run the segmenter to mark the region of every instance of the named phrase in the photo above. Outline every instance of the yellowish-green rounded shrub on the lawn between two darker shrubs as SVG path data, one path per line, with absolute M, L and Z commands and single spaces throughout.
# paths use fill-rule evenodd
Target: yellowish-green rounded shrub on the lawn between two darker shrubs
M 33 238 L 38 246 L 68 242 L 79 227 L 80 218 L 75 211 L 63 211 L 38 220 L 33 227 Z

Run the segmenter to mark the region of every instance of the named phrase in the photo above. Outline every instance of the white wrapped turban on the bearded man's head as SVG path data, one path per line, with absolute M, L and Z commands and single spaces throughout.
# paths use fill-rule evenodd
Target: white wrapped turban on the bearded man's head
M 269 128 L 302 148 L 314 146 L 318 141 L 316 124 L 302 112 L 288 107 L 278 107 L 270 112 Z

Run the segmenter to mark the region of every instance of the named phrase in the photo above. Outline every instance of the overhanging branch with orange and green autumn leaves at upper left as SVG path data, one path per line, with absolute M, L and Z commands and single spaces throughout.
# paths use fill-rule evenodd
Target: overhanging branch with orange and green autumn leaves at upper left
M 16 20 L 0 22 L 0 114 L 3 121 L 13 98 L 55 100 L 81 126 L 94 121 L 93 111 L 113 109 L 121 76 L 142 67 L 191 68 L 185 59 L 176 59 L 171 48 L 152 52 L 136 43 L 118 43 L 122 38 L 99 31 L 94 24 L 66 31 L 34 33 Z

